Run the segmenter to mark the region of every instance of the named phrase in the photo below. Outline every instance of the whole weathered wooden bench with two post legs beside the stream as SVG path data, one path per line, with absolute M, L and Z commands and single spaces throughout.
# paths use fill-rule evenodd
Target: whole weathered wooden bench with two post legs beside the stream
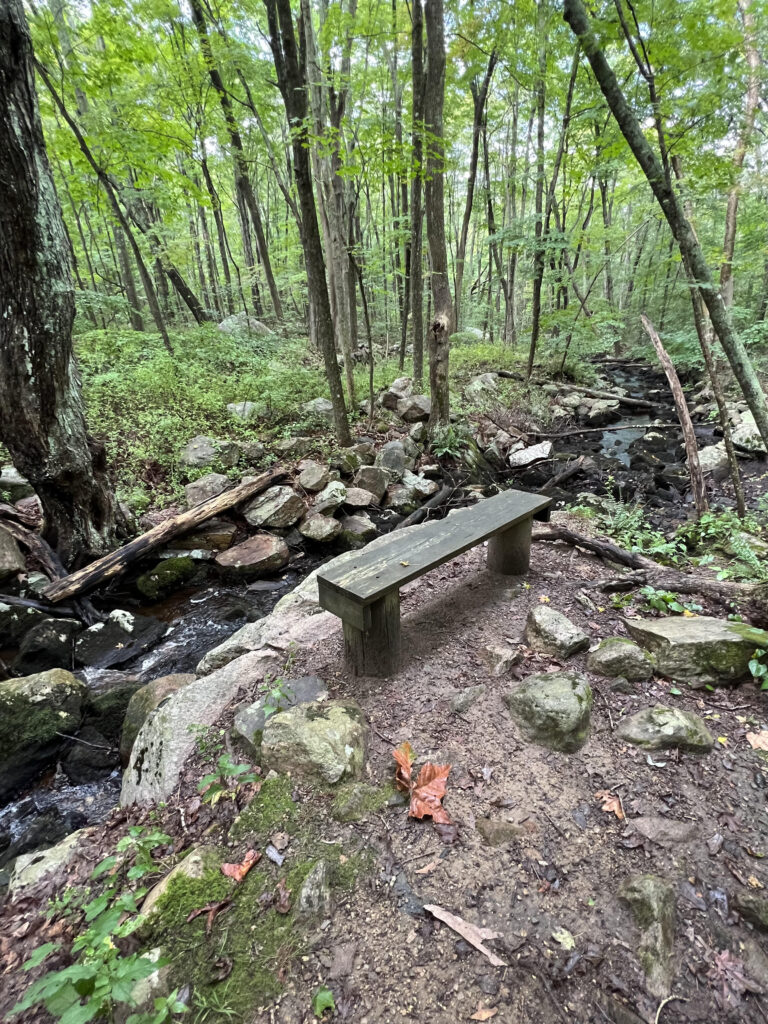
M 344 625 L 344 651 L 356 676 L 391 676 L 400 654 L 400 587 L 488 541 L 487 566 L 527 572 L 531 519 L 549 519 L 551 498 L 504 490 L 426 526 L 390 534 L 350 561 L 317 573 L 319 603 Z M 414 530 L 416 532 L 414 532 Z

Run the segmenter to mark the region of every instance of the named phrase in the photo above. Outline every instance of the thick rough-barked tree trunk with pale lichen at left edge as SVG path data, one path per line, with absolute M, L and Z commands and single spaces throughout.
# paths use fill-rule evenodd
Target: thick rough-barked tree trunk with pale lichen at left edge
M 0 5 L 0 439 L 43 504 L 61 560 L 109 549 L 103 451 L 87 435 L 72 350 L 71 250 L 45 153 L 22 0 Z

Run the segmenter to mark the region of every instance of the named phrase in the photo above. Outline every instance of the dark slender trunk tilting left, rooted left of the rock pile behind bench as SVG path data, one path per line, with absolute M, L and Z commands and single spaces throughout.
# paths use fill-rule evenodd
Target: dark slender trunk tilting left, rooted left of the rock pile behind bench
M 336 439 L 342 446 L 347 446 L 351 444 L 351 436 L 344 408 L 341 374 L 336 359 L 331 303 L 326 282 L 326 262 L 323 257 L 323 243 L 317 225 L 317 210 L 314 205 L 312 174 L 309 166 L 306 68 L 299 63 L 290 0 L 264 0 L 264 5 L 269 24 L 269 45 L 274 59 L 278 85 L 286 108 L 288 123 L 291 126 L 294 178 L 301 205 L 303 225 L 301 241 L 304 249 L 309 301 L 313 307 L 314 329 L 326 365 L 326 375 L 334 408 Z

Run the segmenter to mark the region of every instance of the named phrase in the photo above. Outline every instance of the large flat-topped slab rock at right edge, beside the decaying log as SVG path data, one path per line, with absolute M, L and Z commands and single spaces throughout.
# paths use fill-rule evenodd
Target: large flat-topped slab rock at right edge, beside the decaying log
M 768 647 L 765 630 L 708 615 L 628 618 L 626 626 L 653 655 L 660 675 L 694 689 L 749 679 L 755 648 Z

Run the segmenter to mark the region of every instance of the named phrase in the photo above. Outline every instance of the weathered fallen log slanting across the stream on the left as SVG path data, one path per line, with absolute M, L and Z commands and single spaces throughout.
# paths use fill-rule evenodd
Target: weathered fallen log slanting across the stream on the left
M 148 554 L 155 548 L 159 548 L 167 541 L 170 541 L 171 538 L 177 537 L 179 534 L 188 532 L 202 522 L 205 522 L 206 519 L 211 519 L 213 516 L 225 512 L 236 505 L 240 505 L 249 498 L 255 497 L 262 490 L 265 490 L 274 480 L 285 475 L 286 470 L 282 467 L 271 469 L 255 477 L 253 480 L 249 480 L 247 483 L 241 483 L 237 487 L 232 487 L 231 490 L 225 490 L 222 495 L 209 498 L 207 501 L 201 502 L 200 505 L 187 509 L 186 512 L 180 512 L 178 515 L 166 519 L 165 522 L 153 526 L 152 529 L 145 534 L 141 534 L 140 537 L 130 541 L 122 548 L 111 551 L 109 555 L 104 555 L 95 562 L 91 562 L 90 565 L 86 565 L 85 568 L 78 569 L 77 572 L 65 577 L 63 580 L 56 580 L 48 584 L 42 591 L 43 597 L 54 603 L 56 601 L 63 601 L 65 598 L 82 594 L 86 590 L 92 590 L 93 587 L 103 583 L 104 580 L 115 579 L 115 577 L 124 572 L 131 562 L 134 562 L 137 558 Z

